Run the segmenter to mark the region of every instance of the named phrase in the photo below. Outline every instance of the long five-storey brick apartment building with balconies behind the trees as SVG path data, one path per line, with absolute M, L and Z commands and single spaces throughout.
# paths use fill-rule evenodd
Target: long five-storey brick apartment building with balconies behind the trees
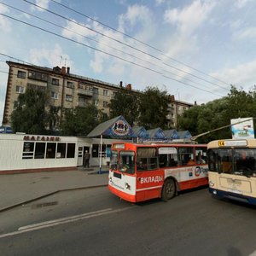
M 118 91 L 129 90 L 131 93 L 140 93 L 131 89 L 131 84 L 123 87 L 119 84 L 110 84 L 96 79 L 90 79 L 70 73 L 69 67 L 38 67 L 24 63 L 6 61 L 9 65 L 9 78 L 3 110 L 3 126 L 10 125 L 10 115 L 15 108 L 20 93 L 26 88 L 38 88 L 49 91 L 49 106 L 65 108 L 84 107 L 88 103 L 95 104 L 96 108 L 106 116 L 109 115 L 108 103 Z M 175 101 L 170 98 L 169 113 L 166 119 L 170 127 L 177 128 L 178 115 L 190 108 L 191 104 Z M 62 113 L 60 113 L 62 116 Z

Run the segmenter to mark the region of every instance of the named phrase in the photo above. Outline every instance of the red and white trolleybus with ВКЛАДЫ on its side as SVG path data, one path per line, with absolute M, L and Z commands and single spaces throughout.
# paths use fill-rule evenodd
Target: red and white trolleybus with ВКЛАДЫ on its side
M 114 143 L 108 189 L 125 201 L 168 201 L 207 185 L 207 145 Z

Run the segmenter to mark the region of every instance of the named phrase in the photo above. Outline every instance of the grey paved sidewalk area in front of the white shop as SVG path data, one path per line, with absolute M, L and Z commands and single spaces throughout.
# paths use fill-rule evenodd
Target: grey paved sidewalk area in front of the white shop
M 0 175 L 0 212 L 60 190 L 108 184 L 108 166 L 74 171 L 36 172 Z

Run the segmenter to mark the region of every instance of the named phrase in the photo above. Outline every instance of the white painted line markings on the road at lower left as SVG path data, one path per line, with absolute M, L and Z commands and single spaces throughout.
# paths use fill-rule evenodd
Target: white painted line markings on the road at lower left
M 22 233 L 26 233 L 26 232 L 30 232 L 30 231 L 34 231 L 34 230 L 45 229 L 45 228 L 53 227 L 53 226 L 60 225 L 60 224 L 67 224 L 67 223 L 78 221 L 78 220 L 81 220 L 84 218 L 94 218 L 94 217 L 111 214 L 111 213 L 115 213 L 115 212 L 123 212 L 123 211 L 129 210 L 131 208 L 132 207 L 125 207 L 125 208 L 116 209 L 116 210 L 113 210 L 112 208 L 107 208 L 107 209 L 103 209 L 103 210 L 96 211 L 96 212 L 87 212 L 84 214 L 74 215 L 74 216 L 67 217 L 67 218 L 57 218 L 54 220 L 49 220 L 49 221 L 41 222 L 38 224 L 31 224 L 31 225 L 20 227 L 17 231 L 0 235 L 0 239 L 4 238 L 4 237 L 8 237 L 8 236 L 20 235 Z

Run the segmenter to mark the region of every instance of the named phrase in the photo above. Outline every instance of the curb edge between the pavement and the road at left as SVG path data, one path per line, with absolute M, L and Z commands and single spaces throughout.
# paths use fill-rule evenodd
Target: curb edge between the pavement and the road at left
M 3 207 L 0 209 L 0 212 L 5 212 L 5 211 L 8 211 L 10 209 L 13 209 L 15 207 L 20 207 L 22 205 L 26 205 L 32 201 L 37 201 L 39 199 L 42 199 L 44 197 L 47 197 L 49 195 L 55 195 L 57 193 L 60 193 L 60 192 L 65 192 L 65 191 L 73 191 L 73 190 L 79 190 L 79 189 L 96 189 L 96 188 L 102 188 L 102 187 L 106 187 L 108 186 L 108 184 L 105 184 L 105 185 L 96 185 L 96 186 L 87 186 L 87 187 L 78 187 L 78 188 L 70 188 L 70 189 L 59 189 L 59 190 L 55 190 L 53 192 L 50 192 L 50 193 L 47 193 L 47 194 L 44 194 L 44 195 L 40 195 L 40 196 L 37 196 L 37 197 L 34 197 L 32 199 L 29 199 L 29 200 L 26 200 L 26 201 L 22 201 L 22 202 L 19 202 L 19 203 L 16 203 L 12 206 L 9 206 L 9 207 Z

